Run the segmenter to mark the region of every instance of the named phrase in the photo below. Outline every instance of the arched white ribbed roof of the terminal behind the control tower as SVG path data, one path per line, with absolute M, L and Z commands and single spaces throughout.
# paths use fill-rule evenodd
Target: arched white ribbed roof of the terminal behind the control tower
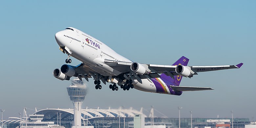
M 53 114 L 52 117 L 54 117 L 56 112 L 66 112 L 71 115 L 74 115 L 74 109 L 42 109 L 34 114 L 44 114 L 45 116 Z M 48 114 L 46 114 L 48 113 Z M 33 114 L 33 115 L 34 115 Z M 97 109 L 82 109 L 81 110 L 81 119 L 86 120 L 97 118 L 97 117 L 134 117 L 135 115 L 142 114 L 142 112 L 134 110 L 132 108 L 130 109 L 100 109 L 99 107 Z M 67 115 L 66 115 L 67 116 Z M 146 115 L 144 115 L 147 117 Z M 68 117 L 68 116 L 67 116 Z

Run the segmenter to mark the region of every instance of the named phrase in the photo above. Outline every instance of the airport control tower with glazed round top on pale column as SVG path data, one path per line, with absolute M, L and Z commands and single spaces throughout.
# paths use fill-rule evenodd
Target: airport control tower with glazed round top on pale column
M 74 124 L 75 128 L 81 126 L 81 106 L 85 99 L 85 85 L 78 78 L 74 79 L 72 84 L 67 87 L 70 100 L 74 104 Z

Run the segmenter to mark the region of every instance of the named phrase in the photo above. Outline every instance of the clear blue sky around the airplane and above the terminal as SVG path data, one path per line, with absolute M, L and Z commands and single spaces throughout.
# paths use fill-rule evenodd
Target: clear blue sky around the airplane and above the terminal
M 229 65 L 241 69 L 200 73 L 181 86 L 213 91 L 181 96 L 113 92 L 93 80 L 83 107 L 149 109 L 168 117 L 256 117 L 255 1 L 2 1 L 0 109 L 4 119 L 22 108 L 72 108 L 66 87 L 52 71 L 65 63 L 54 34 L 75 27 L 139 63 L 170 65 L 182 55 L 188 65 Z M 72 59 L 72 64 L 80 62 Z M 31 112 L 32 113 L 32 112 Z M 157 115 L 161 116 L 161 115 Z

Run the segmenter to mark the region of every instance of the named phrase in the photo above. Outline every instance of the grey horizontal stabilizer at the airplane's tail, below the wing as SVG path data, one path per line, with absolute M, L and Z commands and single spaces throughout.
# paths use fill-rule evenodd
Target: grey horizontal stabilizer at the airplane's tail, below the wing
M 172 86 L 170 85 L 173 91 L 202 91 L 202 90 L 213 90 L 212 88 L 207 87 L 185 87 L 185 86 Z

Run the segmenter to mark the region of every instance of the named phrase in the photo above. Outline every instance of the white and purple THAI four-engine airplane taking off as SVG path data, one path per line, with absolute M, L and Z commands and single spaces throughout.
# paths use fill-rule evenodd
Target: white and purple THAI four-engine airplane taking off
M 243 63 L 224 66 L 187 66 L 189 59 L 182 56 L 172 65 L 142 64 L 133 62 L 116 53 L 103 42 L 93 36 L 73 27 L 55 34 L 59 50 L 68 55 L 66 63 L 71 63 L 70 57 L 80 60 L 77 66 L 64 64 L 60 69 L 54 69 L 53 76 L 60 80 L 70 80 L 78 77 L 95 80 L 95 88 L 101 89 L 101 82 L 111 83 L 113 91 L 121 89 L 137 89 L 145 92 L 181 95 L 183 91 L 213 90 L 209 87 L 179 86 L 182 77 L 192 78 L 199 72 L 240 68 Z

